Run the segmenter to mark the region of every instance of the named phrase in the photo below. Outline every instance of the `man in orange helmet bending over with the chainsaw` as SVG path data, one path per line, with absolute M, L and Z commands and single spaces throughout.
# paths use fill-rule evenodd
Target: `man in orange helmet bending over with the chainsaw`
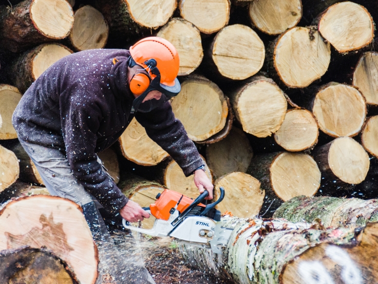
M 178 70 L 177 50 L 157 37 L 130 50 L 81 51 L 51 65 L 14 111 L 20 143 L 46 188 L 82 206 L 95 238 L 104 234 L 97 201 L 129 222 L 149 217 L 122 194 L 96 155 L 117 141 L 134 116 L 212 199 L 213 185 L 198 151 L 169 102 L 181 90 Z

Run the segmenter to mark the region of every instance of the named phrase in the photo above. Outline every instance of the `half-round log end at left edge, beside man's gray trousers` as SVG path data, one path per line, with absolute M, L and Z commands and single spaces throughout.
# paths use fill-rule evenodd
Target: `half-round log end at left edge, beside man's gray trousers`
M 16 155 L 0 146 L 0 192 L 11 186 L 20 175 L 20 166 Z

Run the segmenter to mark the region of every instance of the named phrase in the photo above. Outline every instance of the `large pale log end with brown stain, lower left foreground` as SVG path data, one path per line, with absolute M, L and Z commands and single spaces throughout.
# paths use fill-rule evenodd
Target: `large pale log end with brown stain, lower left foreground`
M 0 250 L 23 246 L 44 246 L 68 264 L 80 283 L 96 282 L 97 246 L 81 207 L 72 201 L 37 195 L 9 202 L 0 215 Z

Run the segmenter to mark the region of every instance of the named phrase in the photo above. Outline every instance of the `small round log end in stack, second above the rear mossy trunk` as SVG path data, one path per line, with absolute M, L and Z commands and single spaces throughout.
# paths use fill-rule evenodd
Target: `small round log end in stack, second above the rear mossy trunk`
M 285 150 L 298 152 L 314 148 L 318 135 L 319 130 L 312 113 L 293 109 L 286 113 L 284 122 L 274 133 L 274 139 Z

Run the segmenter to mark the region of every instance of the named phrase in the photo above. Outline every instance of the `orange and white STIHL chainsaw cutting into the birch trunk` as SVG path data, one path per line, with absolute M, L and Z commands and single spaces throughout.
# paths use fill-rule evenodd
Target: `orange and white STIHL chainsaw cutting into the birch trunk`
M 214 203 L 202 202 L 209 192 L 205 190 L 194 201 L 183 194 L 165 189 L 156 196 L 156 202 L 144 207 L 156 220 L 152 229 L 130 226 L 123 219 L 125 228 L 154 237 L 174 237 L 196 246 L 210 246 L 212 251 L 222 254 L 219 247 L 225 247 L 232 229 L 222 227 L 220 211 L 215 206 L 224 198 L 224 189 L 220 188 L 220 197 Z

